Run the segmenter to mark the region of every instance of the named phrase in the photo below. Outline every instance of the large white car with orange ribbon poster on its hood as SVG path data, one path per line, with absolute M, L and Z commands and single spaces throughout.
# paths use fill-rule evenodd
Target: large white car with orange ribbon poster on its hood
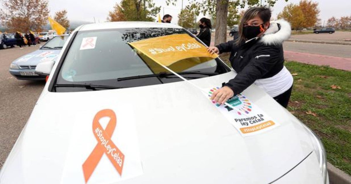
M 242 95 L 279 126 L 243 136 L 201 91 L 155 74 L 127 44 L 172 34 L 188 32 L 153 22 L 75 29 L 58 62 L 37 66 L 50 75 L 0 183 L 329 183 L 319 138 L 263 90 Z M 204 89 L 236 75 L 219 58 L 178 74 Z

